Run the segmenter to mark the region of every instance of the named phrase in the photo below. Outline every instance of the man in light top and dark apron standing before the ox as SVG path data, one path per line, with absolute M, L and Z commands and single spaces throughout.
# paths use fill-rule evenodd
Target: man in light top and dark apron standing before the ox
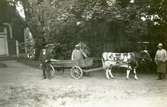
M 157 64 L 157 72 L 158 79 L 157 80 L 166 80 L 166 60 L 167 60 L 167 52 L 165 49 L 163 49 L 162 43 L 158 44 L 158 50 L 155 54 L 155 63 Z

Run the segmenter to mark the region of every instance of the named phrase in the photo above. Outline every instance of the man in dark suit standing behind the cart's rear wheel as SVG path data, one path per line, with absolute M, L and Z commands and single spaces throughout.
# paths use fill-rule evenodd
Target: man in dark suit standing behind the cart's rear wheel
M 39 55 L 40 66 L 42 66 L 43 79 L 46 79 L 46 72 L 50 74 L 48 68 L 48 61 L 50 60 L 50 53 L 46 51 L 46 48 L 42 49 Z M 50 78 L 50 77 L 49 77 Z

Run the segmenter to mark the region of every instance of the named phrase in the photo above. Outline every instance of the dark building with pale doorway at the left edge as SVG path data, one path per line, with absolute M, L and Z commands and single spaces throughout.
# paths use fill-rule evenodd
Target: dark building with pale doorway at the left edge
M 0 57 L 18 57 L 25 53 L 19 43 L 25 42 L 25 26 L 17 13 L 5 2 L 0 3 Z

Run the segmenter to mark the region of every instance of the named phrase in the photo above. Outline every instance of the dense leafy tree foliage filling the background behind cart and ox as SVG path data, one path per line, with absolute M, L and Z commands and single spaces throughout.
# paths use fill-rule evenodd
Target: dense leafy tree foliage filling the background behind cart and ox
M 138 41 L 167 40 L 166 0 L 16 1 L 23 3 L 37 56 L 54 43 L 59 44 L 57 58 L 68 59 L 80 41 L 89 46 L 90 56 L 101 56 L 103 51 L 135 51 Z

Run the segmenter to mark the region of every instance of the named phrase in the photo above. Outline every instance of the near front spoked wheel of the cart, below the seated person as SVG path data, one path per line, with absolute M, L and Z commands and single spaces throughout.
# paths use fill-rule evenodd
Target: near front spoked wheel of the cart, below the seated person
M 73 66 L 70 70 L 70 74 L 74 79 L 80 79 L 83 75 L 83 72 L 79 66 Z

